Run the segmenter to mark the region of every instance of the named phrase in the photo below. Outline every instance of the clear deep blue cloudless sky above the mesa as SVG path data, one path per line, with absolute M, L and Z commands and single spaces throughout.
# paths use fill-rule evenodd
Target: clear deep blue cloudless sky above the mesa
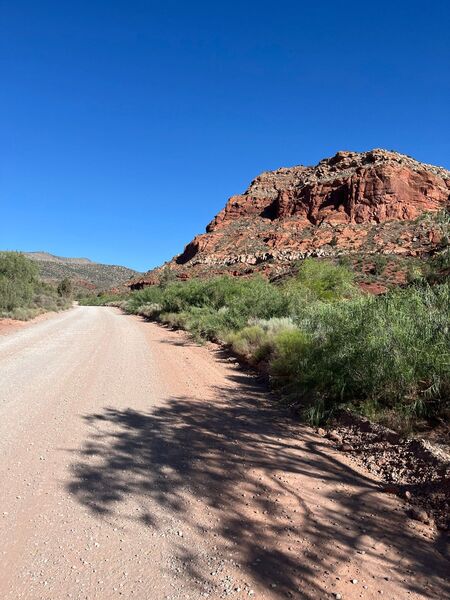
M 261 171 L 449 168 L 449 4 L 0 0 L 0 248 L 147 270 Z

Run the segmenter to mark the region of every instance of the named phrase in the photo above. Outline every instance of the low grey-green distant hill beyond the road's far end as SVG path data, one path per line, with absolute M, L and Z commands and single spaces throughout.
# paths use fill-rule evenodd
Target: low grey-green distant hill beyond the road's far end
M 48 252 L 24 252 L 25 256 L 39 265 L 42 279 L 59 281 L 69 277 L 87 288 L 99 290 L 120 287 L 137 271 L 119 265 L 103 265 L 88 258 L 66 258 Z

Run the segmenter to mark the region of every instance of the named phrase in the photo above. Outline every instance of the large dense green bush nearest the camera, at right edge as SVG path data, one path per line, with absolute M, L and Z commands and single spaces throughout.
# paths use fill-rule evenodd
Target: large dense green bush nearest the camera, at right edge
M 417 417 L 448 410 L 449 286 L 318 304 L 299 322 L 309 342 L 279 354 L 275 377 L 329 410 L 368 403 Z

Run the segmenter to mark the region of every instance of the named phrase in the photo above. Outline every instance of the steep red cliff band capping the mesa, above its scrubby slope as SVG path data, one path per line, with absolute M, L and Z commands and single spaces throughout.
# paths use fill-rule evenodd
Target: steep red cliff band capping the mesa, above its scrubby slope
M 232 220 L 295 216 L 322 222 L 381 223 L 412 220 L 448 201 L 449 172 L 385 150 L 338 152 L 315 167 L 263 173 L 233 196 L 208 225 L 213 232 Z

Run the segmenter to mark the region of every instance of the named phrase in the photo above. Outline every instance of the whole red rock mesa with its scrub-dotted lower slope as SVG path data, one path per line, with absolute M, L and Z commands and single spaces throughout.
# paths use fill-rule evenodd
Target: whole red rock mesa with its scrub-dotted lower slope
M 169 267 L 196 274 L 273 274 L 306 256 L 420 256 L 440 232 L 422 216 L 449 203 L 450 172 L 386 150 L 338 152 L 315 167 L 262 173 L 232 196 Z

